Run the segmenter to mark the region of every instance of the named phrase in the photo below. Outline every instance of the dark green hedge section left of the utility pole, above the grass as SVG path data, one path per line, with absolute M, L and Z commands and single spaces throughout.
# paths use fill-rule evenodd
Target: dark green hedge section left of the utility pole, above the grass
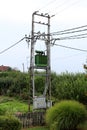
M 1 72 L 0 95 L 27 100 L 29 97 L 29 75 L 15 71 Z

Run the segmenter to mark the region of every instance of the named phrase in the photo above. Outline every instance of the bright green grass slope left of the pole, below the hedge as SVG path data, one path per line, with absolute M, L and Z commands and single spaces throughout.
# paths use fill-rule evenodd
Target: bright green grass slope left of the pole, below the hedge
M 5 109 L 6 112 L 28 112 L 28 104 L 20 102 L 14 98 L 0 96 L 0 108 Z

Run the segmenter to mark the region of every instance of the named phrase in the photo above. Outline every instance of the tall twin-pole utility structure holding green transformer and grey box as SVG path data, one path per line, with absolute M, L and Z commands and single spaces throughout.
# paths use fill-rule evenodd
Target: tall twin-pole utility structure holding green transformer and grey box
M 40 27 L 45 26 L 46 32 L 42 33 L 41 28 L 38 28 L 39 30 L 37 31 L 37 25 L 40 25 Z M 44 44 L 46 46 L 46 54 L 41 50 L 36 51 L 35 54 L 35 45 L 37 44 L 37 40 L 44 41 Z M 35 69 L 42 69 L 46 72 L 44 92 L 41 96 L 35 95 Z M 33 109 L 46 109 L 52 105 L 50 66 L 50 16 L 48 14 L 40 14 L 37 11 L 32 14 L 30 50 L 30 99 L 33 101 Z

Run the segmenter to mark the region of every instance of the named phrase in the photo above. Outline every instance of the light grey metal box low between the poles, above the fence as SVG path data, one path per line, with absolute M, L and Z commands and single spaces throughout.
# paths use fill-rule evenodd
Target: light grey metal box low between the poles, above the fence
M 34 97 L 33 99 L 33 108 L 34 109 L 44 109 L 46 108 L 46 98 L 43 96 Z

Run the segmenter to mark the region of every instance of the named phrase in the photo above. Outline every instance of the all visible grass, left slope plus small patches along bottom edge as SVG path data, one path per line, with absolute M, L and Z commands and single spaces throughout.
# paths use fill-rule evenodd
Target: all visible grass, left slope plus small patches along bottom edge
M 14 98 L 0 96 L 0 108 L 5 109 L 8 113 L 28 112 L 28 104 L 20 102 Z M 80 125 L 78 130 L 87 130 L 87 121 L 84 125 Z M 31 127 L 23 130 L 49 130 L 47 127 Z

